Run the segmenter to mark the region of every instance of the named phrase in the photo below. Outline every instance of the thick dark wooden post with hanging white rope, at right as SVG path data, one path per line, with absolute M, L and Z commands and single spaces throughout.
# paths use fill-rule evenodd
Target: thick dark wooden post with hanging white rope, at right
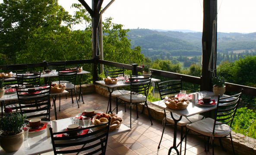
M 212 72 L 208 71 L 212 49 L 212 23 L 216 20 L 215 54 L 217 51 L 217 0 L 203 1 L 203 31 L 202 31 L 202 84 L 201 90 L 212 91 Z M 212 58 L 213 61 L 213 58 Z M 212 64 L 211 68 L 216 64 Z M 215 71 L 216 75 L 216 71 Z

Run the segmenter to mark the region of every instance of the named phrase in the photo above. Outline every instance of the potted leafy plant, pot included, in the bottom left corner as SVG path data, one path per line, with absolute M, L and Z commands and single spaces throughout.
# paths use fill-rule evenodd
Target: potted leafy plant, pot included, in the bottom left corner
M 5 152 L 17 151 L 24 140 L 25 116 L 12 111 L 11 108 L 6 108 L 4 110 L 5 115 L 0 117 L 0 146 Z

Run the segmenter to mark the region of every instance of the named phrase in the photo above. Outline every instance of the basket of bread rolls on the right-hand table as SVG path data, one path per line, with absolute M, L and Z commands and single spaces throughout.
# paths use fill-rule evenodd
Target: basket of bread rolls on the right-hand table
M 187 99 L 165 96 L 164 103 L 170 109 L 183 110 L 190 104 L 190 101 Z

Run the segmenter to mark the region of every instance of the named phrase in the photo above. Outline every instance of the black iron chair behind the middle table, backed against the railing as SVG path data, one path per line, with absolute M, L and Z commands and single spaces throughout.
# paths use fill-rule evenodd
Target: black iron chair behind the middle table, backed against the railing
M 105 69 L 104 68 L 104 73 L 105 73 L 106 78 L 108 76 L 110 78 L 117 78 L 119 74 L 122 74 L 124 76 L 124 69 L 123 68 L 110 68 L 110 69 Z M 108 88 L 108 91 L 110 92 L 112 90 L 110 90 L 110 88 Z M 127 95 L 127 94 L 130 94 L 129 90 L 114 90 L 111 93 L 111 97 L 115 97 L 116 98 L 116 110 L 117 110 L 117 112 L 118 112 L 118 98 L 120 96 Z M 108 106 L 110 104 L 111 97 L 109 98 L 109 101 L 108 101 L 108 104 L 107 104 L 107 110 L 108 110 Z M 125 108 L 125 112 L 126 112 L 126 105 L 125 105 L 125 103 L 124 103 L 124 108 Z

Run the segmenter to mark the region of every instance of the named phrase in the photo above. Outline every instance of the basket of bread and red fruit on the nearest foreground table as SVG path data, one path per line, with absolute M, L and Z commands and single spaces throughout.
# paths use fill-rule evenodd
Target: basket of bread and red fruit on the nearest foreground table
M 111 117 L 109 131 L 118 130 L 119 127 L 121 126 L 121 124 L 123 123 L 123 119 L 122 118 L 117 118 L 116 115 L 114 115 L 114 114 L 105 114 L 105 115 L 108 115 L 108 116 L 104 117 L 106 119 L 104 119 L 104 118 L 102 119 L 102 120 L 105 120 L 105 121 L 102 122 L 101 119 L 97 119 L 97 116 L 95 116 L 95 117 L 92 118 L 92 123 L 95 124 L 95 125 L 98 125 L 98 124 L 101 124 L 101 123 L 106 123 L 106 121 L 108 121 L 108 117 Z M 95 122 L 96 119 L 98 120 L 98 123 Z M 104 126 L 98 127 L 98 129 L 101 129 L 103 127 Z

